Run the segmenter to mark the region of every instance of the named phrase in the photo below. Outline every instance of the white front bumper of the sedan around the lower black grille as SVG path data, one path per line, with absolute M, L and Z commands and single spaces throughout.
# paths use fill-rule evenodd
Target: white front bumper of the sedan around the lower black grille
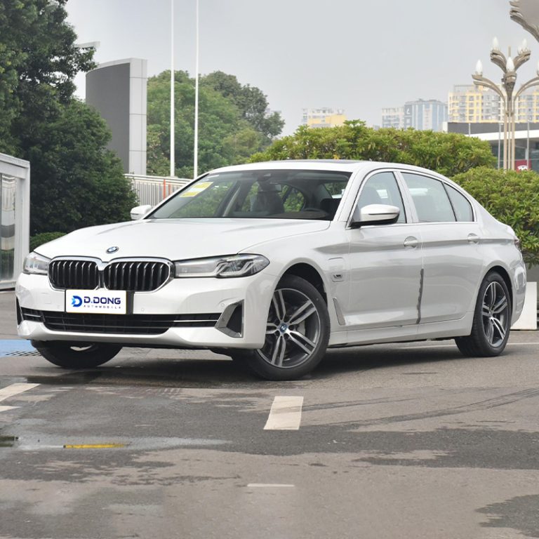
M 173 279 L 154 292 L 133 295 L 133 315 L 173 315 L 178 319 L 197 319 L 204 313 L 216 313 L 215 326 L 170 327 L 159 334 L 110 333 L 105 331 L 57 331 L 44 321 L 22 319 L 18 325 L 21 338 L 32 340 L 65 340 L 69 342 L 114 342 L 130 346 L 170 346 L 189 348 L 260 348 L 264 344 L 267 312 L 270 308 L 276 278 L 267 272 L 236 279 Z M 15 286 L 18 305 L 23 312 L 47 312 L 61 315 L 65 307 L 65 292 L 51 288 L 44 275 L 21 274 Z M 241 332 L 228 331 L 227 317 L 236 305 L 241 305 Z M 112 315 L 103 314 L 104 324 Z M 34 317 L 39 318 L 39 317 Z M 173 317 L 174 318 L 174 317 Z M 58 326 L 56 326 L 58 327 Z

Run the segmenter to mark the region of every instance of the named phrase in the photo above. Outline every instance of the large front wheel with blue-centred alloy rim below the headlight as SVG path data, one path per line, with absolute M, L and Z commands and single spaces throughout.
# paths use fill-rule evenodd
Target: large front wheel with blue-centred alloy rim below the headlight
M 266 380 L 297 380 L 310 373 L 326 353 L 329 315 L 312 284 L 286 275 L 272 296 L 265 344 L 259 350 L 237 350 L 234 361 Z

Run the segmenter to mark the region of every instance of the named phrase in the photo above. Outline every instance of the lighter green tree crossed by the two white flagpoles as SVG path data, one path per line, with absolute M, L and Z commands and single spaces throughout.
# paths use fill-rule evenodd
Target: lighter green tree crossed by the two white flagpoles
M 170 173 L 170 72 L 148 79 L 147 170 Z M 175 164 L 176 175 L 193 173 L 194 79 L 175 72 Z M 199 170 L 208 171 L 242 163 L 260 147 L 264 138 L 241 117 L 234 102 L 222 93 L 201 86 L 199 90 Z

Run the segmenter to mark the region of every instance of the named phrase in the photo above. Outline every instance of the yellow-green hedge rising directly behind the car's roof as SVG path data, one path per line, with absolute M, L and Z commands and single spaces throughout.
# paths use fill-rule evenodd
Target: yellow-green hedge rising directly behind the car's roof
M 494 166 L 488 142 L 455 133 L 414 129 L 369 128 L 363 121 L 317 129 L 300 126 L 251 157 L 251 161 L 280 159 L 364 159 L 413 164 L 453 176 L 476 166 Z

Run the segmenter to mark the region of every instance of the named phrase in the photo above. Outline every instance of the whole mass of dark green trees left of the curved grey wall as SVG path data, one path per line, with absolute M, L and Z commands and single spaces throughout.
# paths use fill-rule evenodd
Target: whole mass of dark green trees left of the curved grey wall
M 32 234 L 127 218 L 133 202 L 105 122 L 73 98 L 75 74 L 95 64 L 66 3 L 0 2 L 0 152 L 30 161 Z

